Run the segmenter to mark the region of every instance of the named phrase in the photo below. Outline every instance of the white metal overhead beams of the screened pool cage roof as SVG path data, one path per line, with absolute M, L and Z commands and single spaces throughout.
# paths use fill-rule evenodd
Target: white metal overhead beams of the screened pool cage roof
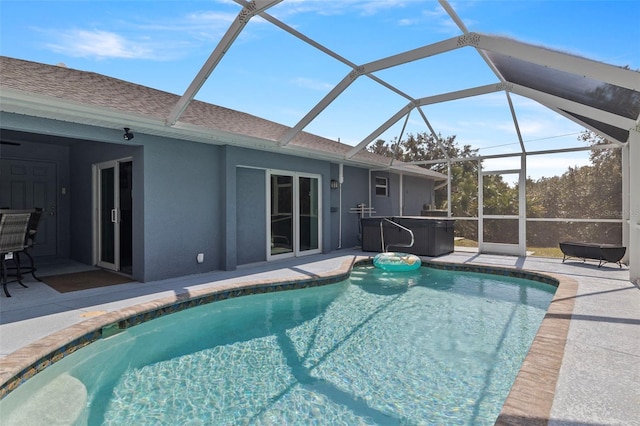
M 576 121 L 585 128 L 600 133 L 618 143 L 626 143 L 628 141 L 629 129 L 636 126 L 640 115 L 640 93 L 638 93 L 640 90 L 640 75 L 638 72 L 504 37 L 470 32 L 451 5 L 444 0 L 441 0 L 440 4 L 459 27 L 460 36 L 364 64 L 356 64 L 343 58 L 329 48 L 269 15 L 267 10 L 282 0 L 252 1 L 250 3 L 243 0 L 235 1 L 244 6 L 244 9 L 242 9 L 238 19 L 233 22 L 205 65 L 191 82 L 180 101 L 172 109 L 167 117 L 169 125 L 175 125 L 178 122 L 186 105 L 195 97 L 224 54 L 231 48 L 234 40 L 246 26 L 249 19 L 256 15 L 278 26 L 292 36 L 309 43 L 350 68 L 347 75 L 280 139 L 280 145 L 282 146 L 290 143 L 320 112 L 327 108 L 331 102 L 335 101 L 360 77 L 369 78 L 395 92 L 405 98 L 407 104 L 371 134 L 363 138 L 360 143 L 346 154 L 346 158 L 350 158 L 366 148 L 369 143 L 373 142 L 385 130 L 404 116 L 407 116 L 414 109 L 418 110 L 427 128 L 434 132 L 428 117 L 421 110 L 421 107 L 493 92 L 505 93 L 505 102 L 510 105 L 516 129 L 518 129 L 519 123 L 513 110 L 510 98 L 511 93 L 533 99 L 570 120 Z M 477 51 L 482 60 L 486 62 L 486 65 L 495 74 L 495 83 L 434 96 L 419 97 L 405 93 L 375 74 L 388 68 L 465 47 L 471 47 Z M 414 88 L 414 90 L 417 89 L 419 88 Z M 519 131 L 518 136 L 522 152 L 526 152 Z

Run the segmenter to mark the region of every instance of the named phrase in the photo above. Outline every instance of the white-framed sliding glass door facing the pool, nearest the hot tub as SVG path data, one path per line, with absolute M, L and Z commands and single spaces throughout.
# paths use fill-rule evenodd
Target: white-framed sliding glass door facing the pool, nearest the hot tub
M 268 258 L 319 253 L 320 177 L 270 171 L 267 182 Z

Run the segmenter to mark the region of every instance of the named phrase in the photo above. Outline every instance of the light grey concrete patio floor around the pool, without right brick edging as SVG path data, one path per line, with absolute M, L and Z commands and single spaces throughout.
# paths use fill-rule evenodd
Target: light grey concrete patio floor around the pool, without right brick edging
M 102 313 L 114 312 L 167 296 L 246 281 L 326 275 L 357 256 L 360 250 L 260 263 L 236 271 L 120 284 L 73 293 L 58 293 L 33 278 L 28 289 L 10 285 L 13 297 L 0 297 L 0 370 L 12 353 L 52 333 Z M 566 343 L 555 380 L 550 412 L 542 417 L 510 418 L 509 424 L 640 425 L 640 290 L 629 281 L 626 266 L 536 257 L 458 252 L 434 262 L 490 265 L 567 277 L 577 283 Z M 73 262 L 39 265 L 39 275 L 86 269 Z M 556 295 L 556 298 L 558 295 Z M 521 372 L 522 373 L 522 372 Z M 535 375 L 535 374 L 534 374 Z M 504 423 L 504 422 L 503 422 Z

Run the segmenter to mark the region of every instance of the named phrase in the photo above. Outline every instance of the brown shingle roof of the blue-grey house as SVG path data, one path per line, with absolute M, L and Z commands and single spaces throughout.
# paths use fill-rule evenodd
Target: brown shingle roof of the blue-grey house
M 70 69 L 65 66 L 0 56 L 0 85 L 30 95 L 46 96 L 86 106 L 107 108 L 163 122 L 180 96 L 101 74 Z M 194 100 L 180 117 L 180 122 L 212 131 L 243 135 L 272 142 L 278 141 L 289 127 L 251 114 Z M 344 156 L 352 148 L 307 132 L 299 133 L 289 149 L 306 150 L 332 157 Z M 367 151 L 353 158 L 370 166 L 385 167 L 389 159 Z M 433 173 L 406 165 L 407 171 Z

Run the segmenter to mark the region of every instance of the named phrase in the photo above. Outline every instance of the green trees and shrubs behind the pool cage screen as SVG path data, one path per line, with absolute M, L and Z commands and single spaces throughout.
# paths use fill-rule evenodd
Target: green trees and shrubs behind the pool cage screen
M 585 131 L 580 140 L 591 145 L 608 143 L 595 133 Z M 469 145 L 459 147 L 455 136 L 434 137 L 430 134 L 409 134 L 398 143 L 378 139 L 368 148 L 371 152 L 404 162 L 451 159 L 451 212 L 455 217 L 478 217 L 478 151 Z M 529 218 L 615 218 L 622 215 L 622 163 L 619 149 L 595 149 L 591 165 L 569 167 L 561 176 L 526 181 L 526 213 Z M 481 165 L 481 162 L 480 162 Z M 448 174 L 446 161 L 430 164 L 431 170 Z M 483 177 L 484 214 L 517 215 L 518 185 L 510 186 L 500 175 Z M 436 208 L 447 209 L 447 188 L 436 190 Z M 509 222 L 509 223 L 507 223 Z M 485 240 L 515 242 L 518 227 L 514 221 L 488 221 Z M 620 243 L 621 226 L 617 223 L 581 223 L 567 225 L 555 222 L 530 223 L 527 244 L 554 247 L 560 240 L 584 240 Z M 474 221 L 458 221 L 456 236 L 478 240 Z

